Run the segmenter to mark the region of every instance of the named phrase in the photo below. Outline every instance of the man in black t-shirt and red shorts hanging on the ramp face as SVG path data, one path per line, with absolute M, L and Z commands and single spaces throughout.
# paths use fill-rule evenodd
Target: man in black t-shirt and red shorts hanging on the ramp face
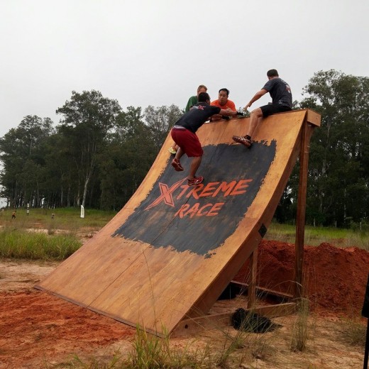
M 210 97 L 206 92 L 201 92 L 198 97 L 199 102 L 192 106 L 187 113 L 183 114 L 180 119 L 173 126 L 170 134 L 173 140 L 179 146 L 175 158 L 172 160 L 172 166 L 180 172 L 183 167 L 180 163 L 180 158 L 186 154 L 189 158 L 193 158 L 189 167 L 189 175 L 187 177 L 187 184 L 194 186 L 201 183 L 204 177 L 196 177 L 196 171 L 199 168 L 202 155 L 202 145 L 196 135 L 196 131 L 214 114 L 221 114 L 224 116 L 236 116 L 236 111 L 231 109 L 221 109 L 218 106 L 210 106 Z

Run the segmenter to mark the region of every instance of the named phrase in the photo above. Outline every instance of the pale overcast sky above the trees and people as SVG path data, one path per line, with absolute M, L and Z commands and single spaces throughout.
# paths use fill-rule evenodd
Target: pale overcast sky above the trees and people
M 184 108 L 199 84 L 245 106 L 275 68 L 301 100 L 314 72 L 369 76 L 369 0 L 0 0 L 0 136 L 72 91 L 123 109 Z M 252 108 L 270 101 L 269 95 Z

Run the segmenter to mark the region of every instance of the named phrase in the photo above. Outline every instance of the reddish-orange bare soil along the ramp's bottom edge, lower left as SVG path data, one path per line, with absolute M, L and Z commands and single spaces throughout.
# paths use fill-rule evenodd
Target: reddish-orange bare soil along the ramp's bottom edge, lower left
M 135 329 L 106 316 L 59 299 L 47 292 L 26 290 L 0 293 L 0 368 L 40 368 L 63 353 L 93 351 Z M 3 366 L 1 363 L 6 363 Z M 37 364 L 36 364 L 37 363 Z

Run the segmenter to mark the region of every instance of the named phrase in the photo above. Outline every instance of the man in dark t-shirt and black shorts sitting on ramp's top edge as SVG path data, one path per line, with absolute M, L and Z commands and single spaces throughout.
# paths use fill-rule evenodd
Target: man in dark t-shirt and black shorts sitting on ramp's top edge
M 272 97 L 272 103 L 260 108 L 254 109 L 250 114 L 250 126 L 248 127 L 248 133 L 246 136 L 233 136 L 233 141 L 242 143 L 243 145 L 251 146 L 251 137 L 258 126 L 258 120 L 262 117 L 270 116 L 276 113 L 282 113 L 283 111 L 292 110 L 292 93 L 291 88 L 283 79 L 278 75 L 277 70 L 268 70 L 267 72 L 268 82 L 264 87 L 256 92 L 254 97 L 250 99 L 249 103 L 243 108 L 247 110 L 256 100 L 260 99 L 267 92 Z

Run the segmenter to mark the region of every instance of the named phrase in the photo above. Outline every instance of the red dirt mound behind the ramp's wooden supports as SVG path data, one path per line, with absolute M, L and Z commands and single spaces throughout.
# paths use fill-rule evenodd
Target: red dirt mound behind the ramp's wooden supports
M 305 293 L 316 309 L 360 313 L 369 272 L 369 253 L 356 247 L 337 248 L 329 243 L 304 247 Z M 235 280 L 249 282 L 248 263 Z M 260 287 L 292 293 L 294 245 L 262 241 L 258 249 Z

